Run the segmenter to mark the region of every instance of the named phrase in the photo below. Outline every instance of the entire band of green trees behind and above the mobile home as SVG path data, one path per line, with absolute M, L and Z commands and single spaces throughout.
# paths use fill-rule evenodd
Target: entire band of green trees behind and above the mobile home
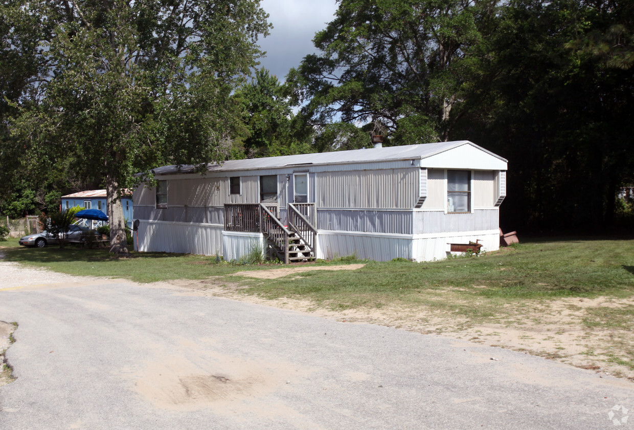
M 631 0 L 340 0 L 286 83 L 247 78 L 268 29 L 256 0 L 0 5 L 3 213 L 89 185 L 116 205 L 157 165 L 373 133 L 507 158 L 504 228 L 607 227 L 634 183 Z

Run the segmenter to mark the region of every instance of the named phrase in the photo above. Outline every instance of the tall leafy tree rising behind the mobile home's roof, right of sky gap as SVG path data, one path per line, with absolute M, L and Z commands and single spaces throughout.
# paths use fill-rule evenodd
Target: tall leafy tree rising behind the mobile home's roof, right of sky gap
M 446 140 L 462 99 L 478 21 L 495 0 L 342 0 L 318 32 L 323 53 L 308 55 L 289 79 L 314 124 L 339 118 L 387 128 L 396 144 Z

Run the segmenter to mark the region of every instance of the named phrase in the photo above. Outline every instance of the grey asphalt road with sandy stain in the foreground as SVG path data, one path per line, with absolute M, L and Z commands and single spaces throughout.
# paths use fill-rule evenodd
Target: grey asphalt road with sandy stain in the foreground
M 182 288 L 0 280 L 0 320 L 1 430 L 634 427 L 631 382 Z

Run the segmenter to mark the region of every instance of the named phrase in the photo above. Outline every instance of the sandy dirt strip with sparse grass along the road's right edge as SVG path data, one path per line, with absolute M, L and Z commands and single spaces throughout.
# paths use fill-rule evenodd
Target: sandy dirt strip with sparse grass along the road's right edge
M 596 299 L 528 300 L 522 302 L 521 306 L 508 304 L 505 316 L 493 322 L 479 323 L 460 318 L 450 312 L 439 311 L 425 304 L 408 307 L 384 306 L 380 309 L 361 307 L 333 311 L 311 300 L 287 297 L 269 300 L 259 296 L 245 295 L 243 290 L 247 287 L 228 284 L 225 279 L 182 281 L 172 283 L 172 286 L 186 286 L 196 290 L 196 294 L 310 312 L 345 323 L 379 324 L 411 332 L 439 334 L 486 346 L 514 349 L 586 370 L 634 380 L 634 370 L 631 368 L 634 332 L 626 328 L 586 325 L 589 312 L 602 307 L 634 306 L 634 299 L 597 297 Z

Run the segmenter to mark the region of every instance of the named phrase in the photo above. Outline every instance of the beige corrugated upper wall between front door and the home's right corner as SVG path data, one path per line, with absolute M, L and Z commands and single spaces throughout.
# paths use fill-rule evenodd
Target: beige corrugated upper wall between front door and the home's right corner
M 386 169 L 317 173 L 320 208 L 413 208 L 418 201 L 418 171 Z

